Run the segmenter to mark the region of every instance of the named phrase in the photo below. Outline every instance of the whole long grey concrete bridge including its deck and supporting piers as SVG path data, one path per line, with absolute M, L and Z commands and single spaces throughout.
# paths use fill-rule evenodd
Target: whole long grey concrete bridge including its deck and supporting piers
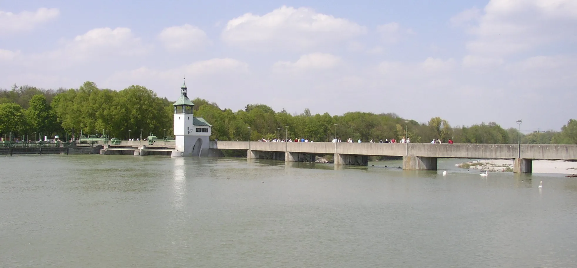
M 238 142 L 209 145 L 220 150 L 247 150 L 248 158 L 313 162 L 316 155 L 334 154 L 335 165 L 367 165 L 368 156 L 402 156 L 403 169 L 436 170 L 437 158 L 514 159 L 514 172 L 531 173 L 532 160 L 577 160 L 577 145 L 543 144 L 370 144 L 332 142 Z

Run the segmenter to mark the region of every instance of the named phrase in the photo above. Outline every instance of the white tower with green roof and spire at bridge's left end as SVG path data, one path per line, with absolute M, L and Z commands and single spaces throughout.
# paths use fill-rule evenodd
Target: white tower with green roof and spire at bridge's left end
M 186 96 L 186 89 L 183 81 L 181 96 L 173 104 L 176 152 L 172 156 L 206 156 L 212 125 L 193 116 L 194 103 Z

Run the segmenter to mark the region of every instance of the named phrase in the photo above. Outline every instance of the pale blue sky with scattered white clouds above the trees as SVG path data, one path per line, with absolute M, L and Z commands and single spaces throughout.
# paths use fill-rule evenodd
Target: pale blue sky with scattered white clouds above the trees
M 523 132 L 577 118 L 577 1 L 0 1 L 0 88 L 142 85 L 241 110 Z

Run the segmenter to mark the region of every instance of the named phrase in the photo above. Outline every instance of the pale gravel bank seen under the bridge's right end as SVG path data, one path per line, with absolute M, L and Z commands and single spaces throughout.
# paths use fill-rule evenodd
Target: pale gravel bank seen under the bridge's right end
M 466 169 L 512 172 L 513 160 L 479 160 L 456 164 L 456 166 Z M 563 160 L 533 160 L 533 173 L 576 174 L 577 162 Z

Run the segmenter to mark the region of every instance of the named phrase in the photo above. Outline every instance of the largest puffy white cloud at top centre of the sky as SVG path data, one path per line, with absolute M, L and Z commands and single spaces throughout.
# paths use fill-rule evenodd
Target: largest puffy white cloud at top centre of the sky
M 251 13 L 228 21 L 222 40 L 245 48 L 275 47 L 302 50 L 349 40 L 366 33 L 365 27 L 344 18 L 306 7 L 282 6 L 263 16 Z

